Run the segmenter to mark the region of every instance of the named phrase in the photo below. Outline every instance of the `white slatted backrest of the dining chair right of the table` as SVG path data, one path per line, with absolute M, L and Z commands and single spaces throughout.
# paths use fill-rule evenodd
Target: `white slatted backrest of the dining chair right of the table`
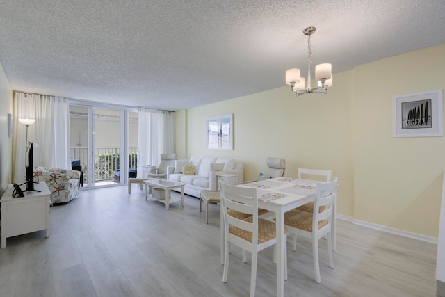
M 330 228 L 332 211 L 334 209 L 335 198 L 337 196 L 338 177 L 333 182 L 318 182 L 316 187 L 316 198 L 314 201 L 314 214 L 312 222 L 312 232 L 318 230 L 318 223 L 327 220 L 327 228 Z M 323 206 L 325 208 L 323 209 Z M 322 211 L 317 211 L 322 207 Z M 326 226 L 325 226 L 326 227 Z

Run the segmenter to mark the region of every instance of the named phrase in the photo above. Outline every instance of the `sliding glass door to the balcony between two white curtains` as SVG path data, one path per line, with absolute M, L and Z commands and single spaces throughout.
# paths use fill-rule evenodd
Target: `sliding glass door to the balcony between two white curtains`
M 126 108 L 70 106 L 71 158 L 81 166 L 83 188 L 136 177 L 137 122 L 138 114 Z

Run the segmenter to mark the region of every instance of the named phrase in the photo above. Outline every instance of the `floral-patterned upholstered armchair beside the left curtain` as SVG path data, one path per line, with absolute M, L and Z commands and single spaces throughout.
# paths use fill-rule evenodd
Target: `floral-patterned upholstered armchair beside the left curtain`
M 61 168 L 34 167 L 34 182 L 46 182 L 52 203 L 69 202 L 79 195 L 80 172 Z

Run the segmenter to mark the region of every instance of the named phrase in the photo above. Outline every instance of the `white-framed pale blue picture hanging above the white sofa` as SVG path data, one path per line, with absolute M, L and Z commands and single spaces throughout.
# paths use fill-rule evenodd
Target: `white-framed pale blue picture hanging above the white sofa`
M 207 150 L 233 150 L 233 115 L 218 115 L 206 119 Z

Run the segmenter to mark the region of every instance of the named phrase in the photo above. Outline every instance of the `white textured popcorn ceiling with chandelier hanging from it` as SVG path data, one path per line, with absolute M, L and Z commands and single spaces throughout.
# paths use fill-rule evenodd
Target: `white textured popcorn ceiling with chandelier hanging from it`
M 177 111 L 445 43 L 444 0 L 1 0 L 14 90 Z M 334 81 L 335 87 L 335 81 Z

